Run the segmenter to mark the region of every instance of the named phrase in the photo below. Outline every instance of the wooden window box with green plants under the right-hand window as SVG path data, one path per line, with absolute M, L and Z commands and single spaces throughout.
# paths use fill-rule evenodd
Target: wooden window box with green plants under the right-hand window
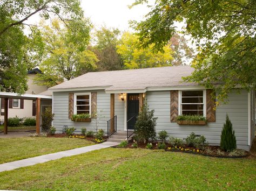
M 206 118 L 201 115 L 179 115 L 177 117 L 179 125 L 206 125 Z

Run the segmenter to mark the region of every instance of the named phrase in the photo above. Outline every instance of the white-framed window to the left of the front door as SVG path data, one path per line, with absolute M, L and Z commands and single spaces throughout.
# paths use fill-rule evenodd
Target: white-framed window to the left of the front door
M 91 114 L 91 94 L 75 94 L 74 114 Z

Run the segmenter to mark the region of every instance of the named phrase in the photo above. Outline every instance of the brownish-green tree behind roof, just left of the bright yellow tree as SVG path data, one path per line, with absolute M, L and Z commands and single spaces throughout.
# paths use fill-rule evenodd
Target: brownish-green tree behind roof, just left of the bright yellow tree
M 120 31 L 107 29 L 105 26 L 95 32 L 96 45 L 92 47 L 99 61 L 96 63 L 97 70 L 123 69 L 123 60 L 117 53 Z

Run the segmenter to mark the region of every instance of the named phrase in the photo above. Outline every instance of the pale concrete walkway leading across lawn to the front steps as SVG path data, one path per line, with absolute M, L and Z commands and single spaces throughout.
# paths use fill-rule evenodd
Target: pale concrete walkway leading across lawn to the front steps
M 116 146 L 118 144 L 119 143 L 114 143 L 114 142 L 104 142 L 101 144 L 75 148 L 75 149 L 68 150 L 68 151 L 62 151 L 62 152 L 57 152 L 57 153 L 52 153 L 52 154 L 45 154 L 45 155 L 41 155 L 38 157 L 17 160 L 17 161 L 13 161 L 13 162 L 7 162 L 7 163 L 0 165 L 0 172 L 11 171 L 12 169 L 36 165 L 39 163 L 48 162 L 50 160 L 60 159 L 63 157 L 70 157 L 72 155 L 82 154 L 82 153 L 86 153 L 86 152 L 90 152 L 90 151 L 99 150 L 102 148 Z

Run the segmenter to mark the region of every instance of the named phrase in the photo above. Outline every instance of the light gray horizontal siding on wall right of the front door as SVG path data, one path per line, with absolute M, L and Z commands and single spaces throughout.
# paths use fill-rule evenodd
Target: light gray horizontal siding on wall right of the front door
M 221 104 L 216 110 L 216 122 L 207 125 L 178 125 L 170 122 L 170 91 L 147 91 L 147 103 L 154 109 L 157 119 L 157 132 L 166 130 L 170 136 L 186 138 L 191 132 L 203 135 L 211 145 L 220 143 L 221 130 L 225 123 L 226 114 L 230 117 L 239 148 L 248 150 L 248 95 L 242 90 L 241 94 L 231 93 L 228 104 Z

